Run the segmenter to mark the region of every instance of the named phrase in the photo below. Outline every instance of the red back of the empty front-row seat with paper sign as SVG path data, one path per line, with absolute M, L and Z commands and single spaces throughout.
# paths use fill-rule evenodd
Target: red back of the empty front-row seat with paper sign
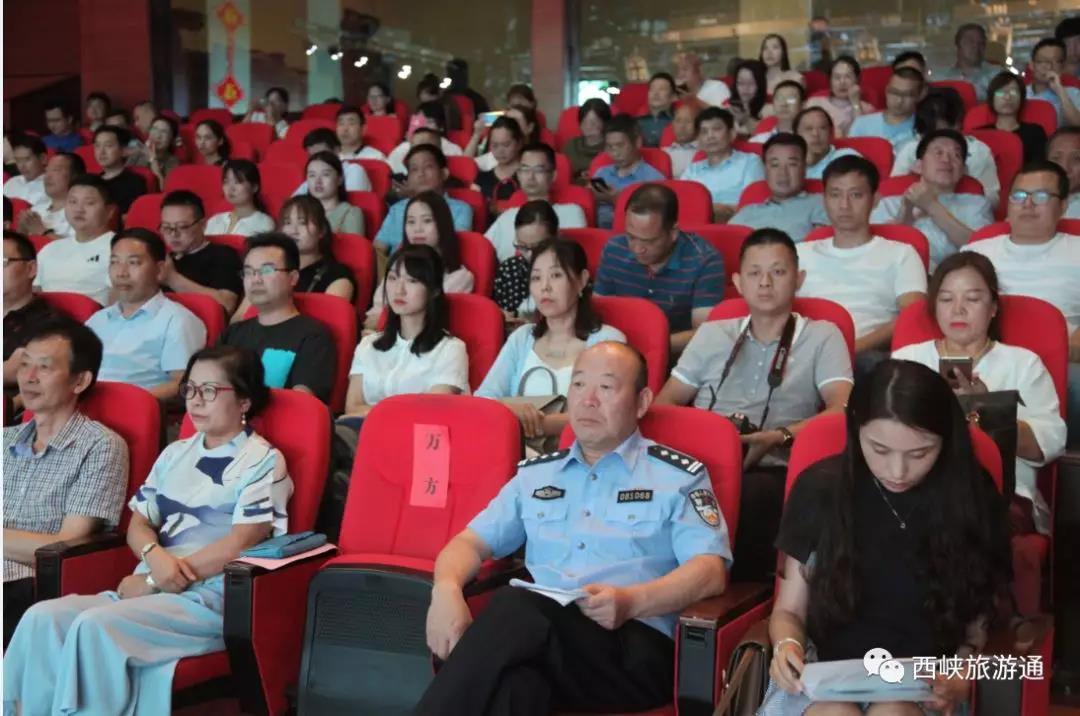
M 418 424 L 445 427 L 449 433 L 445 508 L 410 504 Z M 514 475 L 521 455 L 517 418 L 497 401 L 468 395 L 379 401 L 360 431 L 341 552 L 433 560 Z

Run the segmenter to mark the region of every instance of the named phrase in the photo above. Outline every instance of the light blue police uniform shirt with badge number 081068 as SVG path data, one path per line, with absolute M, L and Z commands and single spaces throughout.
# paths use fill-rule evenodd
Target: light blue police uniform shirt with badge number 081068
M 525 544 L 537 584 L 630 586 L 702 554 L 731 564 L 708 471 L 637 431 L 590 465 L 580 445 L 524 460 L 469 528 L 496 558 Z M 674 613 L 640 621 L 669 636 Z

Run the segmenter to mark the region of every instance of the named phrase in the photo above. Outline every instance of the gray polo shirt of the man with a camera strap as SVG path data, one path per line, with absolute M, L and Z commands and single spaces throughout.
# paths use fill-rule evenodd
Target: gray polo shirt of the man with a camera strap
M 747 321 L 750 316 L 702 324 L 683 351 L 672 376 L 698 389 L 694 407 L 707 410 L 715 392 L 714 413 L 724 416 L 742 413 L 756 424 L 769 394 L 767 379 L 779 338 L 760 343 L 751 333 L 724 387 L 716 390 L 724 364 Z M 828 321 L 810 321 L 796 314 L 792 353 L 784 368 L 783 382 L 772 393 L 766 430 L 789 425 L 820 413 L 821 389 L 837 380 L 851 382 L 851 357 L 840 329 Z

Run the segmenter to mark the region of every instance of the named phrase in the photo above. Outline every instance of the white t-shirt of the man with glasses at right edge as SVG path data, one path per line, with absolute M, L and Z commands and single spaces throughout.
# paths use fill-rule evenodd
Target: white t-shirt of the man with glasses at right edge
M 968 244 L 994 264 L 1001 293 L 1034 296 L 1065 314 L 1071 336 L 1080 327 L 1080 237 L 1058 233 L 1042 244 L 1014 244 L 1009 237 Z

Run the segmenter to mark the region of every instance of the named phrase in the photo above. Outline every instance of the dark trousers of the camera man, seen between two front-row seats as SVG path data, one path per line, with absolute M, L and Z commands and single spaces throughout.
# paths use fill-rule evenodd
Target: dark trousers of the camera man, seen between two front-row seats
M 731 581 L 771 582 L 777 571 L 777 532 L 784 511 L 787 468 L 756 467 L 743 472 Z

